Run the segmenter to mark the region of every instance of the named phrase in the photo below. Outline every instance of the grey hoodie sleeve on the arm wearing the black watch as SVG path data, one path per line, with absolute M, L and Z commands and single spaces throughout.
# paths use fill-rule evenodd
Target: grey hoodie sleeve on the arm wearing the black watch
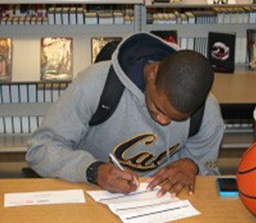
M 73 182 L 86 181 L 86 169 L 96 159 L 86 148 L 76 148 L 88 133 L 90 117 L 96 111 L 107 77 L 103 75 L 108 71 L 106 66 L 96 67 L 89 68 L 85 75 L 78 75 L 28 141 L 26 161 L 38 174 Z

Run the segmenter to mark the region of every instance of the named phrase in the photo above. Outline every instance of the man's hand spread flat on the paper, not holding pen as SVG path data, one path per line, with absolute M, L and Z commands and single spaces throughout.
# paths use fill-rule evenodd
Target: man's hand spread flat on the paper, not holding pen
M 183 158 L 173 162 L 154 174 L 147 180 L 148 191 L 154 189 L 155 186 L 161 186 L 157 197 L 162 197 L 166 192 L 171 192 L 175 197 L 183 190 L 184 186 L 189 187 L 189 194 L 195 192 L 195 175 L 197 167 L 189 158 Z

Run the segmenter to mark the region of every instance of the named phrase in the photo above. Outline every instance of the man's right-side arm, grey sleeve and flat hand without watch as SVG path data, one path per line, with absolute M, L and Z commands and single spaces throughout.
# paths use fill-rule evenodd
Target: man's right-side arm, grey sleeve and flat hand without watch
M 220 142 L 224 134 L 224 122 L 216 100 L 210 96 L 198 134 L 190 137 L 181 152 L 181 159 L 166 165 L 148 180 L 148 190 L 162 186 L 158 196 L 167 191 L 173 195 L 188 186 L 189 193 L 195 190 L 195 175 L 219 174 L 217 160 Z M 198 168 L 198 169 L 197 169 Z

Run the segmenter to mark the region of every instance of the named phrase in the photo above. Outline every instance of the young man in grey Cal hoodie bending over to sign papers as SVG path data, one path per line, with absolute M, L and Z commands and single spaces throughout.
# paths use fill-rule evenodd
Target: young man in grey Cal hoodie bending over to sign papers
M 91 127 L 111 65 L 125 90 L 113 115 Z M 32 134 L 26 160 L 42 176 L 89 181 L 109 192 L 135 191 L 138 175 L 150 176 L 148 190 L 162 186 L 159 197 L 185 186 L 193 193 L 196 174 L 218 174 L 224 123 L 208 95 L 213 76 L 201 54 L 134 34 L 111 61 L 79 74 Z M 188 137 L 189 117 L 204 103 L 201 129 Z M 125 171 L 109 162 L 109 153 Z

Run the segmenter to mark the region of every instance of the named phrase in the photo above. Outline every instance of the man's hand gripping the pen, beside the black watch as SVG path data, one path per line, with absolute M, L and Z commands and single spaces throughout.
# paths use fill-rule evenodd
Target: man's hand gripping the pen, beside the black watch
M 136 191 L 138 178 L 127 169 L 122 171 L 112 163 L 106 163 L 98 169 L 97 184 L 108 192 L 129 193 Z

